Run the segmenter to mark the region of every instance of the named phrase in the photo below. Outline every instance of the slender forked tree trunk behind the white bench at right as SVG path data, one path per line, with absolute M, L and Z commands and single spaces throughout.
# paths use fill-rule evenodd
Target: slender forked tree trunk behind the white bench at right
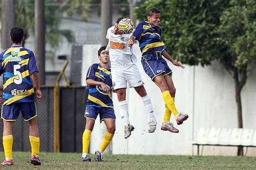
M 241 103 L 241 90 L 244 87 L 247 79 L 246 68 L 242 69 L 241 80 L 239 80 L 239 72 L 237 67 L 233 68 L 233 78 L 235 81 L 235 101 L 237 102 L 237 118 L 238 118 L 238 128 L 242 128 L 242 103 Z M 238 147 L 237 155 L 244 155 L 241 146 Z

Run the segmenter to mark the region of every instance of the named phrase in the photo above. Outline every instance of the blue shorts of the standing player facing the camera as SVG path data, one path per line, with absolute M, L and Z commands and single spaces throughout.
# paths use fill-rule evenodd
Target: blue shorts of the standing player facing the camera
M 116 115 L 114 114 L 113 108 L 86 106 L 86 110 L 84 113 L 85 118 L 96 120 L 98 114 L 100 123 L 102 123 L 104 119 L 116 120 Z

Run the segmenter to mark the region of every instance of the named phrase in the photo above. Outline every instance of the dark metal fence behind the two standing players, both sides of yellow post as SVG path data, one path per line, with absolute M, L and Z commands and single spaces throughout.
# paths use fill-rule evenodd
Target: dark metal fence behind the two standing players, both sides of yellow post
M 42 99 L 36 99 L 40 151 L 44 152 L 54 152 L 53 90 L 53 86 L 41 87 Z M 60 87 L 59 94 L 60 152 L 82 152 L 87 93 L 84 87 Z M 3 121 L 0 121 L 0 134 L 2 137 Z M 29 124 L 23 120 L 22 114 L 15 122 L 12 134 L 14 135 L 13 151 L 31 151 Z M 3 151 L 1 144 L 0 149 Z

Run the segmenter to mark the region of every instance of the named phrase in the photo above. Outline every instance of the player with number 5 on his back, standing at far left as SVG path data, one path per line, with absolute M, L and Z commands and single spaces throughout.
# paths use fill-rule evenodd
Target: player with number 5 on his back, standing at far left
M 39 87 L 38 68 L 33 51 L 25 49 L 24 31 L 22 28 L 12 28 L 12 46 L 0 55 L 0 74 L 3 74 L 2 114 L 3 147 L 5 160 L 2 165 L 14 165 L 12 159 L 12 127 L 18 119 L 19 112 L 23 119 L 29 122 L 29 140 L 31 144 L 31 164 L 41 165 L 39 154 L 39 132 L 37 126 L 37 110 L 34 101 L 34 87 L 36 96 L 42 98 Z M 32 79 L 32 81 L 31 81 Z

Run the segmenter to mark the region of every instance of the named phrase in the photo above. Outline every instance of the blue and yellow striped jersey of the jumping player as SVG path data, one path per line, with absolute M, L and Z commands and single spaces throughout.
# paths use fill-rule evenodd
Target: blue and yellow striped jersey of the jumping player
M 142 57 L 146 57 L 153 52 L 163 52 L 166 47 L 161 40 L 161 28 L 151 25 L 149 22 L 141 21 L 133 32 L 133 36 L 139 41 Z

